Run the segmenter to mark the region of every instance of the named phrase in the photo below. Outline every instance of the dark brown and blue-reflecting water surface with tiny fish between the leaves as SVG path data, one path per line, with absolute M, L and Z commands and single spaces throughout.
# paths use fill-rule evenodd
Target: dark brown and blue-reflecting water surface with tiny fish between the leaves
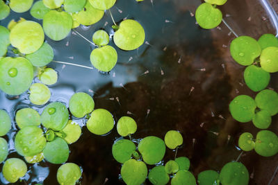
M 244 67 L 236 64 L 229 55 L 229 43 L 234 35 L 224 24 L 214 30 L 203 30 L 195 24 L 195 17 L 190 15 L 190 11 L 194 12 L 199 3 L 161 0 L 154 1 L 152 5 L 149 0 L 142 3 L 118 0 L 111 9 L 115 20 L 127 17 L 139 21 L 145 28 L 146 43 L 136 51 L 121 51 L 111 40 L 110 44 L 117 49 L 118 62 L 110 73 L 51 62 L 49 67 L 59 74 L 58 83 L 50 87 L 51 101 L 58 100 L 68 105 L 72 94 L 87 92 L 94 96 L 95 108 L 108 109 L 115 121 L 121 116 L 133 117 L 138 123 L 134 139 L 149 135 L 163 139 L 168 130 L 179 130 L 183 135 L 183 146 L 177 156 L 190 159 L 190 171 L 195 177 L 202 170 L 220 170 L 227 162 L 236 160 L 240 155 L 236 149 L 238 136 L 242 132 L 256 135 L 259 130 L 252 123 L 234 121 L 228 105 L 239 94 L 253 97 L 255 94 L 243 82 Z M 237 6 L 239 3 L 240 8 Z M 240 35 L 257 38 L 263 33 L 275 33 L 258 1 L 228 1 L 222 10 L 224 15 L 228 15 L 225 20 Z M 19 17 L 33 20 L 28 13 L 12 13 L 1 21 L 1 25 L 6 26 L 10 19 Z M 252 19 L 247 20 L 249 17 Z M 106 21 L 108 24 L 104 26 Z M 91 40 L 99 28 L 112 34 L 112 24 L 106 12 L 97 24 L 81 26 L 76 31 Z M 46 39 L 54 48 L 54 60 L 91 67 L 92 45 L 79 35 L 70 34 L 60 42 Z M 269 87 L 277 90 L 277 75 L 273 75 L 271 80 Z M 8 97 L 0 91 L 0 109 L 6 109 L 13 118 L 17 109 L 26 106 L 33 106 L 28 94 Z M 43 107 L 33 108 L 41 113 Z M 80 125 L 85 123 L 85 120 L 76 121 Z M 277 129 L 275 116 L 270 130 L 278 133 Z M 81 184 L 124 184 L 119 179 L 121 164 L 111 154 L 113 142 L 119 137 L 115 128 L 107 136 L 91 134 L 86 127 L 82 132 L 79 141 L 70 145 L 68 160 L 82 166 Z M 14 131 L 9 134 L 10 142 L 13 134 Z M 19 157 L 11 149 L 8 157 Z M 174 159 L 174 154 L 174 151 L 167 150 L 163 162 Z M 239 161 L 252 174 L 250 184 L 268 184 L 278 166 L 277 155 L 264 158 L 254 152 L 243 153 Z M 59 165 L 41 162 L 28 167 L 31 177 L 17 184 L 40 182 L 48 171 L 44 184 L 57 184 Z M 145 184 L 149 182 L 146 180 Z M 278 184 L 277 176 L 272 184 Z

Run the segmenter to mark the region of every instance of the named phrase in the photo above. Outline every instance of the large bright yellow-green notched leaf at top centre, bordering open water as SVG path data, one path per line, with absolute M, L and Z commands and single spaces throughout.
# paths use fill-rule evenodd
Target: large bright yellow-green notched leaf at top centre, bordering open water
M 117 47 L 131 51 L 138 49 L 144 43 L 145 30 L 138 21 L 126 19 L 121 22 L 113 39 Z

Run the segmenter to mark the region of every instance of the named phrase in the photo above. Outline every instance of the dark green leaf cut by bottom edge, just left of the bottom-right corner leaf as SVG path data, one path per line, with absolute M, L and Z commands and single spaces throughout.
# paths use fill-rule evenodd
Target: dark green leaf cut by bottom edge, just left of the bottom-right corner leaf
M 218 185 L 219 174 L 215 170 L 205 170 L 198 175 L 199 185 Z

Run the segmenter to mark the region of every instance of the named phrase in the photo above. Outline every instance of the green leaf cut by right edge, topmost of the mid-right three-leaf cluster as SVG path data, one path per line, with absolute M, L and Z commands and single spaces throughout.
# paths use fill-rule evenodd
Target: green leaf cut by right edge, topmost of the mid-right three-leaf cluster
M 270 89 L 265 89 L 258 94 L 255 98 L 256 106 L 260 109 L 266 110 L 271 116 L 278 113 L 278 94 Z

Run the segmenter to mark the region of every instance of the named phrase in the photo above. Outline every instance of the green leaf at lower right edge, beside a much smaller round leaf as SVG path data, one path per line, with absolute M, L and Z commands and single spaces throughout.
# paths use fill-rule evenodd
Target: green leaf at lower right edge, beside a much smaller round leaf
M 255 151 L 263 157 L 270 157 L 278 153 L 278 137 L 268 130 L 261 130 L 256 134 Z

